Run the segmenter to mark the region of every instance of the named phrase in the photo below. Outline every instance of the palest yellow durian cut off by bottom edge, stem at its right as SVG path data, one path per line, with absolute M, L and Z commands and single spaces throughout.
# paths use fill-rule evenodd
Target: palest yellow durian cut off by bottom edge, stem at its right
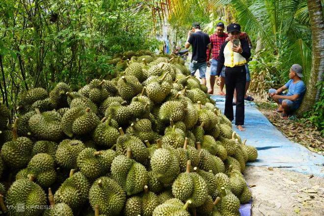
M 184 204 L 177 198 L 168 199 L 155 208 L 153 216 L 190 216 L 188 212 L 190 204 L 191 201 Z

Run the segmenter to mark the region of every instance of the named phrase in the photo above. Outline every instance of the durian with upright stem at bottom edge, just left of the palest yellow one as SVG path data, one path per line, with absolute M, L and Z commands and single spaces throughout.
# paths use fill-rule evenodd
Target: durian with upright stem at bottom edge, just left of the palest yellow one
M 127 199 L 124 216 L 152 216 L 154 209 L 159 205 L 158 196 L 144 186 L 144 192 L 139 196 Z

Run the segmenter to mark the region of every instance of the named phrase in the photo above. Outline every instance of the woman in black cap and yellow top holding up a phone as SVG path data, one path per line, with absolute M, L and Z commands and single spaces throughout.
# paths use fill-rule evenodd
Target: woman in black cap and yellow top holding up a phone
M 233 95 L 234 89 L 237 91 L 235 125 L 240 131 L 244 131 L 244 94 L 246 83 L 245 63 L 246 58 L 251 56 L 250 47 L 246 40 L 240 39 L 241 26 L 233 23 L 227 26 L 229 41 L 225 41 L 219 51 L 219 62 L 216 71 L 216 80 L 225 66 L 225 111 L 224 115 L 233 121 Z

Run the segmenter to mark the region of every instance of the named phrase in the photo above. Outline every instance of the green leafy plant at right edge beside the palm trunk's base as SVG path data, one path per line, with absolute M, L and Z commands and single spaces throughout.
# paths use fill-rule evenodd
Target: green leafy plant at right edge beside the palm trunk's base
M 324 136 L 324 81 L 318 82 L 317 86 L 321 89 L 319 100 L 315 103 L 312 110 L 304 113 L 304 118 L 316 126 L 318 131 Z

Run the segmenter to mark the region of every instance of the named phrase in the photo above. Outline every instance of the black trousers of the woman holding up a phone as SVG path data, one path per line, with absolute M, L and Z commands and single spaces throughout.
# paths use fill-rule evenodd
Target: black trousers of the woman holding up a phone
M 226 100 L 225 100 L 225 116 L 233 121 L 233 95 L 236 89 L 236 113 L 235 125 L 244 125 L 244 94 L 246 83 L 245 66 L 225 67 L 225 85 L 226 85 Z

